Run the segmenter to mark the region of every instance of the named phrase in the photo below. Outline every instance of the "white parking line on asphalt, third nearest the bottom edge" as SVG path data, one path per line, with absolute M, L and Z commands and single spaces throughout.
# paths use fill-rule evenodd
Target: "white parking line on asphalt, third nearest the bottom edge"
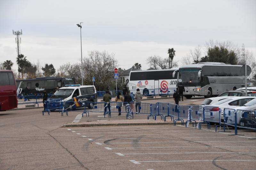
M 105 149 L 145 149 L 145 148 L 256 148 L 256 146 L 159 146 L 159 147 L 119 147 L 119 148 L 109 148 L 105 147 Z

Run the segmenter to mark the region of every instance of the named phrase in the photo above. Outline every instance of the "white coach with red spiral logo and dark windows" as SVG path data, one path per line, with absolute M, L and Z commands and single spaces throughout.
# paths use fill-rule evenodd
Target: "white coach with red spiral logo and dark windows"
M 129 90 L 140 89 L 143 95 L 166 94 L 168 88 L 176 88 L 177 75 L 172 78 L 172 73 L 178 68 L 165 70 L 139 70 L 131 71 L 129 76 Z M 169 89 L 170 90 L 170 89 Z

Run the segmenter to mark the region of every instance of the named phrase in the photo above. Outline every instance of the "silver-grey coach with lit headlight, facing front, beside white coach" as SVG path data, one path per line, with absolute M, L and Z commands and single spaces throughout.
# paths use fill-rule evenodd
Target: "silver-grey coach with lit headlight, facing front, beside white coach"
M 243 69 L 242 65 L 206 62 L 184 65 L 172 76 L 177 77 L 177 86 L 182 84 L 185 87 L 184 95 L 187 99 L 192 96 L 209 98 L 244 87 Z M 251 68 L 247 66 L 247 75 L 250 73 Z

